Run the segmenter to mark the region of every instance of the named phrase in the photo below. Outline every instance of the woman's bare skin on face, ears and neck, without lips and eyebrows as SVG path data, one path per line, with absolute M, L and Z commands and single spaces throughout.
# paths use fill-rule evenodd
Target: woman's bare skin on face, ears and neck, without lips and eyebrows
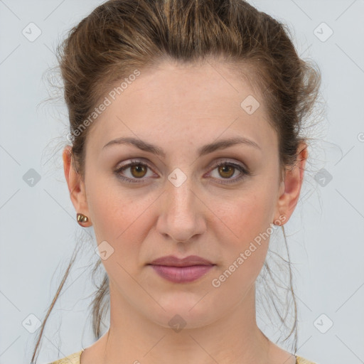
M 240 107 L 248 95 L 260 102 L 253 114 Z M 255 280 L 269 239 L 220 287 L 212 285 L 259 233 L 279 217 L 287 223 L 299 199 L 306 144 L 281 181 L 277 134 L 267 119 L 261 95 L 236 70 L 218 61 L 164 61 L 143 70 L 92 124 L 84 179 L 65 147 L 75 210 L 89 218 L 83 225 L 93 225 L 97 244 L 107 241 L 114 249 L 102 260 L 109 276 L 109 330 L 85 348 L 81 364 L 295 363 L 264 336 L 255 318 Z M 197 156 L 200 146 L 237 136 L 259 149 L 236 144 Z M 119 137 L 156 144 L 166 156 L 127 144 L 103 148 Z M 127 183 L 114 172 L 132 158 L 143 158 L 150 168 L 119 173 L 144 183 Z M 251 175 L 224 183 L 242 172 L 224 174 L 214 161 L 235 162 Z M 175 168 L 187 177 L 179 187 L 168 180 Z M 146 265 L 165 255 L 199 255 L 216 265 L 195 282 L 172 283 Z M 186 321 L 179 332 L 168 325 L 176 314 Z

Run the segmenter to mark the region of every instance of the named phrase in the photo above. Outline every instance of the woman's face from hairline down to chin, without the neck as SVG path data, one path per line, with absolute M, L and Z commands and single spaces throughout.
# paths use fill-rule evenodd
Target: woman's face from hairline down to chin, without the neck
M 90 127 L 75 208 L 95 229 L 112 304 L 207 325 L 252 295 L 272 223 L 293 211 L 277 134 L 261 95 L 221 63 L 161 63 L 119 94 Z M 212 264 L 151 265 L 168 255 Z

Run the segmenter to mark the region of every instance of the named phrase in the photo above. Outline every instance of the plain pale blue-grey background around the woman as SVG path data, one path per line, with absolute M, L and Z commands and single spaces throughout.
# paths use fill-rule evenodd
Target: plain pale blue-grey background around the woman
M 63 176 L 67 110 L 62 101 L 43 101 L 55 46 L 98 4 L 0 0 L 1 364 L 30 362 L 36 333 L 22 323 L 31 314 L 43 319 L 75 240 L 92 236 L 76 223 Z M 289 24 L 299 54 L 314 58 L 323 77 L 326 114 L 314 134 L 321 142 L 313 145 L 301 200 L 285 225 L 299 305 L 298 353 L 319 364 L 364 363 L 364 1 L 251 4 Z M 22 33 L 31 22 L 41 29 L 33 42 Z M 314 34 L 322 22 L 333 30 L 324 42 Z M 41 176 L 33 187 L 23 180 L 31 168 Z M 332 176 L 326 186 L 315 179 L 321 168 Z M 277 241 L 284 245 L 281 232 Z M 92 343 L 87 265 L 95 259 L 90 249 L 77 260 L 45 327 L 38 363 Z M 326 333 L 314 324 L 321 314 L 333 321 Z

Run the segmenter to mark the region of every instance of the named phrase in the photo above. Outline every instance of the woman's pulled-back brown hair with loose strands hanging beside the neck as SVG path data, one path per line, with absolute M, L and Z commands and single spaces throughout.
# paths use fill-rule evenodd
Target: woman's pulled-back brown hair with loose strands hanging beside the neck
M 250 71 L 252 83 L 264 96 L 269 122 L 277 131 L 280 165 L 294 166 L 299 142 L 308 140 L 301 129 L 316 104 L 321 75 L 314 63 L 299 58 L 286 25 L 242 0 L 109 0 L 73 27 L 57 49 L 73 136 L 73 166 L 82 178 L 90 127 L 76 131 L 117 80 L 161 60 L 193 63 L 210 57 L 234 65 L 241 75 Z M 284 233 L 283 226 L 282 230 Z M 287 247 L 285 233 L 284 240 Z M 45 315 L 31 363 L 35 363 L 45 323 L 73 262 L 71 259 Z M 99 259 L 93 274 L 100 263 Z M 295 315 L 291 336 L 297 313 L 289 259 L 288 263 L 288 291 Z M 275 282 L 267 262 L 264 268 Z M 104 272 L 92 301 L 92 328 L 97 339 L 108 298 Z M 273 306 L 277 310 L 276 304 Z M 286 316 L 279 314 L 279 318 L 284 322 Z

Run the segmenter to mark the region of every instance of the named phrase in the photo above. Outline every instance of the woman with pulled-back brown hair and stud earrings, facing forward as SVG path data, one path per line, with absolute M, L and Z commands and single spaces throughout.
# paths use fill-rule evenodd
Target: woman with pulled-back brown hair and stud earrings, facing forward
M 300 196 L 301 124 L 320 83 L 284 26 L 242 0 L 110 0 L 59 60 L 65 178 L 107 275 L 97 341 L 53 364 L 313 364 L 256 322 L 255 282 Z

